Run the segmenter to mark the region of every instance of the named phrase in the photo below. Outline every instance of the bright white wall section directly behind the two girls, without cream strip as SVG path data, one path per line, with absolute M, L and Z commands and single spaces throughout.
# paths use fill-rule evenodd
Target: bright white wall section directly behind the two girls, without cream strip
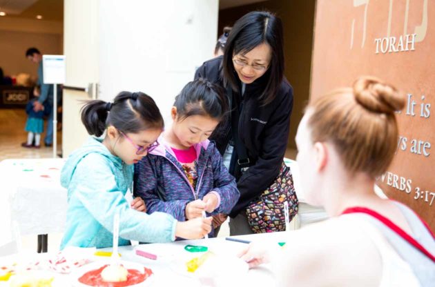
M 175 96 L 213 56 L 218 0 L 120 3 L 101 2 L 99 97 L 111 101 L 122 90 L 142 91 L 168 119 Z

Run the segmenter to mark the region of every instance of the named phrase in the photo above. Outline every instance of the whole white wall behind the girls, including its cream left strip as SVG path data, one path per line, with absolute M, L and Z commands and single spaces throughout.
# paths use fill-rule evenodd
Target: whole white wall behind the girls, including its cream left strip
M 165 119 L 218 37 L 218 0 L 65 0 L 64 9 L 66 86 L 99 82 L 105 101 L 146 92 Z M 64 157 L 87 137 L 79 99 L 88 97 L 64 91 Z

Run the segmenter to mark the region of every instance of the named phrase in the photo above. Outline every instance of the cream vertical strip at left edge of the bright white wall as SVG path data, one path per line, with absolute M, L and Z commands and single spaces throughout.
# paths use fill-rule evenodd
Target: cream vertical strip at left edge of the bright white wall
M 64 0 L 64 55 L 66 86 L 86 88 L 99 80 L 99 0 Z M 64 157 L 81 146 L 89 135 L 81 123 L 86 92 L 64 90 L 62 152 Z

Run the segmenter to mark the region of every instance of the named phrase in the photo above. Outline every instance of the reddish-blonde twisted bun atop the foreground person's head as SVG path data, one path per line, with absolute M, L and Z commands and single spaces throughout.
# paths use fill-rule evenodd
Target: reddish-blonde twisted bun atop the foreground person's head
M 356 101 L 371 112 L 392 114 L 405 106 L 405 97 L 376 77 L 360 77 L 353 88 Z

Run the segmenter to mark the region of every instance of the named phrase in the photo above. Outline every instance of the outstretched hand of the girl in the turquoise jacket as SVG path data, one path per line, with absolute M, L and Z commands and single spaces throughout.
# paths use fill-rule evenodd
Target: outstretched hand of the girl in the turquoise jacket
M 211 217 L 198 217 L 188 221 L 178 221 L 175 236 L 184 239 L 200 239 L 211 231 Z

